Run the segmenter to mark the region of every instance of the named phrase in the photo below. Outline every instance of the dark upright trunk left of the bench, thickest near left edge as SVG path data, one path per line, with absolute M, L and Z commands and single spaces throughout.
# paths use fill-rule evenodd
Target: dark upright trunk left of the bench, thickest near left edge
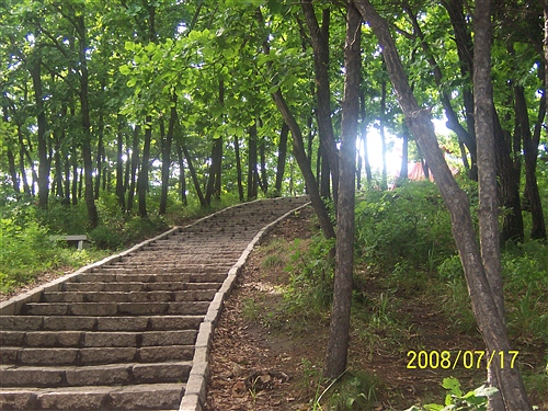
M 34 56 L 28 71 L 33 80 L 34 100 L 36 104 L 36 122 L 38 140 L 38 207 L 47 208 L 49 196 L 49 159 L 47 158 L 46 112 L 42 91 L 42 56 Z

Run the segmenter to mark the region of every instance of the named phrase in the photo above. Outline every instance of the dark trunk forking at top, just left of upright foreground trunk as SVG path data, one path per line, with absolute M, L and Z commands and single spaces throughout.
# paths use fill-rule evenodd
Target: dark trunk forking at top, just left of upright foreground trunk
M 310 33 L 310 42 L 313 49 L 315 75 L 317 84 L 317 99 L 318 99 L 318 133 L 320 135 L 322 147 L 322 158 L 329 167 L 322 169 L 329 170 L 332 174 L 333 182 L 333 201 L 338 202 L 339 190 L 339 153 L 336 149 L 335 138 L 333 135 L 333 125 L 331 122 L 331 87 L 329 83 L 329 24 L 330 24 L 330 10 L 326 8 L 322 10 L 321 27 L 318 24 L 316 12 L 311 0 L 300 1 L 302 12 Z M 329 174 L 324 175 L 329 181 Z M 329 196 L 329 191 L 322 190 L 322 195 Z

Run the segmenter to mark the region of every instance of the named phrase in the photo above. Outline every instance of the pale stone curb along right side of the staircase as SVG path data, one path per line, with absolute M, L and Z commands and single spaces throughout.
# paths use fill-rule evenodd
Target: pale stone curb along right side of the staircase
M 249 254 L 255 246 L 259 246 L 266 233 L 269 233 L 275 225 L 287 218 L 290 214 L 300 210 L 308 206 L 310 202 L 287 212 L 282 217 L 264 226 L 253 240 L 248 244 L 246 250 L 242 252 L 238 262 L 232 265 L 228 272 L 227 278 L 222 283 L 219 290 L 215 294 L 213 301 L 209 304 L 209 308 L 204 318 L 204 321 L 199 324 L 198 335 L 196 338 L 196 343 L 194 345 L 194 357 L 189 381 L 186 383 L 186 389 L 184 391 L 183 399 L 179 406 L 179 411 L 203 411 L 203 406 L 206 401 L 207 396 L 207 383 L 209 380 L 209 351 L 212 350 L 213 333 L 215 331 L 215 326 L 222 311 L 224 302 L 232 292 L 236 277 L 241 272 L 243 265 L 248 261 Z

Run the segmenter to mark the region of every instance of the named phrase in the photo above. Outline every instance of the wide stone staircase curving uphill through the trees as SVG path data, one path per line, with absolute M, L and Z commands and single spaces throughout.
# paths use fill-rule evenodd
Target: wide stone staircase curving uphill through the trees
M 227 274 L 258 231 L 305 203 L 230 207 L 2 302 L 0 409 L 179 410 Z

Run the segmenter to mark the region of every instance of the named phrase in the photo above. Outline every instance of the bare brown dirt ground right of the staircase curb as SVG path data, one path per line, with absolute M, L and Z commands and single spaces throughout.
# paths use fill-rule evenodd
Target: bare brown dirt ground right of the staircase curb
M 311 212 L 305 210 L 283 221 L 250 255 L 215 331 L 205 410 L 318 410 L 311 399 L 323 390 L 318 377 L 329 322 L 295 330 L 281 327 L 276 318 L 269 319 L 270 309 L 282 304 L 279 288 L 287 285 L 289 274 L 284 266 L 265 263 L 269 243 L 285 241 L 289 249 L 296 238 L 309 241 L 311 220 Z M 374 278 L 366 288 L 378 295 Z M 400 310 L 412 324 L 408 347 L 395 354 L 395 350 L 383 344 L 367 347 L 361 346 L 357 339 L 351 341 L 350 367 L 366 370 L 378 380 L 372 409 L 406 410 L 413 404 L 443 403 L 444 377 L 458 378 L 466 390 L 482 385 L 484 366 L 466 369 L 459 363 L 455 369 L 408 368 L 411 357 L 407 351 L 476 351 L 484 350 L 484 345 L 479 336 L 452 332 L 434 305 L 421 296 L 410 293 L 399 297 L 406 298 Z M 548 410 L 548 406 L 540 404 L 539 409 Z

